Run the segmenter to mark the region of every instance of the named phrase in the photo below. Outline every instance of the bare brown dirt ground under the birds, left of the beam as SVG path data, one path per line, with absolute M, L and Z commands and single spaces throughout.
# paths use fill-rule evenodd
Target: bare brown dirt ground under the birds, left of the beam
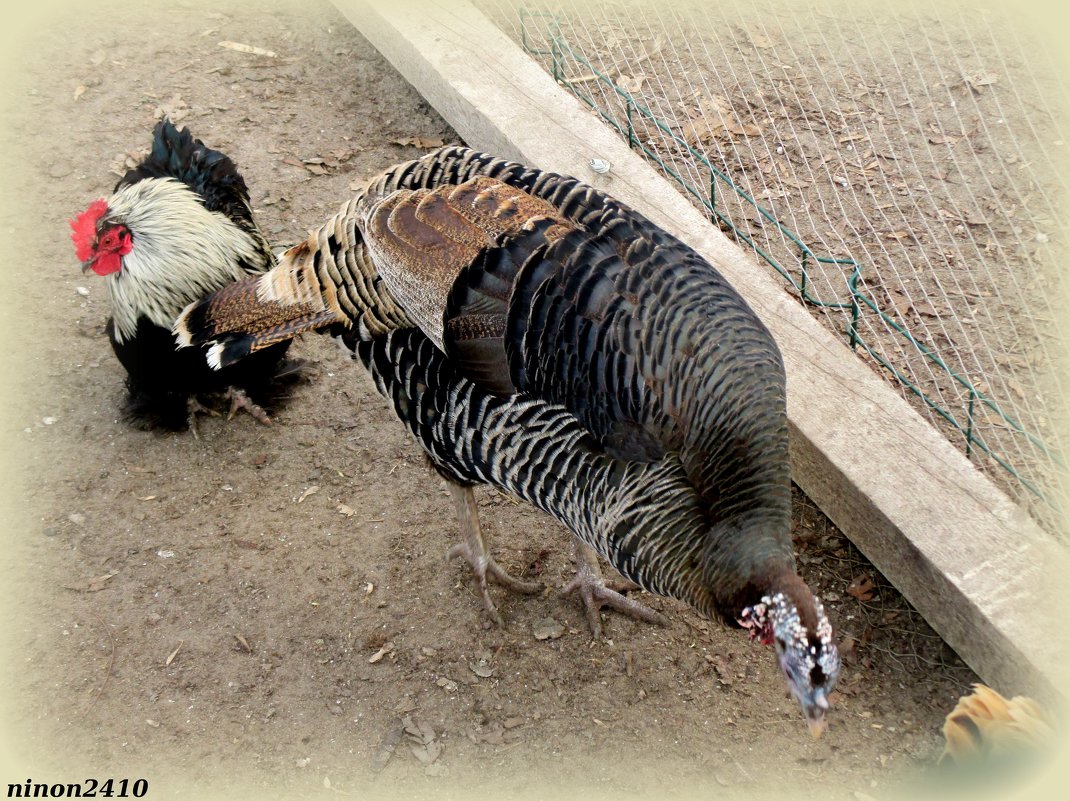
M 308 375 L 270 428 L 211 418 L 195 438 L 120 421 L 104 288 L 66 220 L 162 112 L 235 158 L 280 245 L 422 152 L 406 142 L 456 137 L 323 2 L 64 5 L 9 33 L 0 784 L 866 799 L 933 772 L 974 677 L 802 496 L 801 569 L 845 659 L 820 741 L 768 649 L 679 604 L 647 596 L 670 626 L 607 614 L 592 642 L 574 599 L 498 590 L 506 627 L 491 627 L 467 566 L 444 559 L 459 532 L 442 482 L 325 339 L 295 346 Z M 478 497 L 507 568 L 569 579 L 567 532 Z

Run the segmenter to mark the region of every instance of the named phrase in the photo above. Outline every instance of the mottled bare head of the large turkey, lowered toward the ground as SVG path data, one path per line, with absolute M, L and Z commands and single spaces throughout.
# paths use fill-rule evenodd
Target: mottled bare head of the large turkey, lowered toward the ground
M 812 598 L 812 597 L 811 597 Z M 783 592 L 764 597 L 739 615 L 739 625 L 752 640 L 773 645 L 788 689 L 802 707 L 810 734 L 825 730 L 828 695 L 840 677 L 840 654 L 832 642 L 832 626 L 821 601 L 812 598 L 816 623 L 808 629 L 795 603 Z

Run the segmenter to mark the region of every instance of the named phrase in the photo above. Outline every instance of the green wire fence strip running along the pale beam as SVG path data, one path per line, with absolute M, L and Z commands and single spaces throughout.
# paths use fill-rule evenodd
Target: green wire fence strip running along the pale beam
M 915 396 L 927 409 L 950 426 L 963 442 L 967 455 L 981 452 L 999 465 L 1009 476 L 1048 507 L 1059 512 L 1059 503 L 1045 488 L 1038 486 L 1024 474 L 1004 453 L 998 452 L 985 438 L 978 426 L 980 412 L 993 415 L 1003 427 L 1013 432 L 1028 443 L 1035 453 L 1046 460 L 1057 472 L 1065 474 L 1067 463 L 1057 449 L 1046 443 L 1041 436 L 1027 430 L 1025 426 L 1003 404 L 979 388 L 967 376 L 961 374 L 947 364 L 935 348 L 922 341 L 922 338 L 912 333 L 901 320 L 884 310 L 874 293 L 865 286 L 863 263 L 854 258 L 832 258 L 814 252 L 797 234 L 786 228 L 768 209 L 760 204 L 744 188 L 737 185 L 724 171 L 715 166 L 709 158 L 689 141 L 687 141 L 651 108 L 637 99 L 635 94 L 600 70 L 592 59 L 574 42 L 562 33 L 562 27 L 556 14 L 544 11 L 519 9 L 519 38 L 525 51 L 536 60 L 545 60 L 545 64 L 554 80 L 569 90 L 582 101 L 595 114 L 615 128 L 628 144 L 642 153 L 648 160 L 669 178 L 675 181 L 694 202 L 702 206 L 709 219 L 722 230 L 730 232 L 738 241 L 750 246 L 758 257 L 781 275 L 791 289 L 807 305 L 825 309 L 838 309 L 843 312 L 846 323 L 841 333 L 846 337 L 851 348 L 860 350 L 880 365 L 888 375 L 893 378 L 908 392 Z M 618 108 L 609 108 L 599 103 L 590 91 L 592 83 L 600 83 L 605 90 L 618 98 Z M 701 171 L 708 175 L 708 184 L 700 186 L 693 178 L 683 174 L 674 167 L 658 149 L 652 147 L 648 139 L 639 133 L 640 125 L 653 126 L 660 135 L 662 142 L 670 142 L 681 154 L 698 165 Z M 789 243 L 790 251 L 781 257 L 775 256 L 764 248 L 755 237 L 738 221 L 733 219 L 727 210 L 727 198 L 738 206 L 746 206 L 761 218 L 763 226 L 770 226 L 779 232 L 782 241 Z M 737 215 L 738 216 L 738 215 Z M 789 259 L 792 261 L 789 262 Z M 830 266 L 840 271 L 842 293 L 824 295 L 815 292 L 815 281 L 812 268 L 815 265 Z M 830 284 L 825 281 L 827 286 Z M 949 407 L 942 399 L 920 386 L 906 371 L 900 369 L 867 337 L 866 327 L 861 322 L 866 315 L 877 320 L 887 330 L 901 338 L 907 350 L 931 364 L 958 387 L 957 397 L 961 398 L 960 407 Z

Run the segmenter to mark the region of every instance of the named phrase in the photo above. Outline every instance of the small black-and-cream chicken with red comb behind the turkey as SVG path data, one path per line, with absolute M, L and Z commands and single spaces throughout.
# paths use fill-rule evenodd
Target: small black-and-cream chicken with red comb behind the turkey
M 296 363 L 284 358 L 289 342 L 217 371 L 202 353 L 177 349 L 171 335 L 183 307 L 275 265 L 229 157 L 163 120 L 149 155 L 109 198 L 71 220 L 71 238 L 82 271 L 106 281 L 106 330 L 126 370 L 126 419 L 196 434 L 194 413 L 209 411 L 198 396 L 226 392 L 231 417 L 242 409 L 271 422 L 247 392 L 270 396 L 294 374 Z

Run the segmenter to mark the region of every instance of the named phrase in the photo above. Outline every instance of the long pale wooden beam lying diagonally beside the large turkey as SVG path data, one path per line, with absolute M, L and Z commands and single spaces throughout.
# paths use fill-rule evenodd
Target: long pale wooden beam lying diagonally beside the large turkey
M 984 681 L 1061 691 L 1067 557 L 1022 509 L 470 4 L 335 2 L 470 147 L 580 178 L 714 264 L 783 352 L 795 481 Z

